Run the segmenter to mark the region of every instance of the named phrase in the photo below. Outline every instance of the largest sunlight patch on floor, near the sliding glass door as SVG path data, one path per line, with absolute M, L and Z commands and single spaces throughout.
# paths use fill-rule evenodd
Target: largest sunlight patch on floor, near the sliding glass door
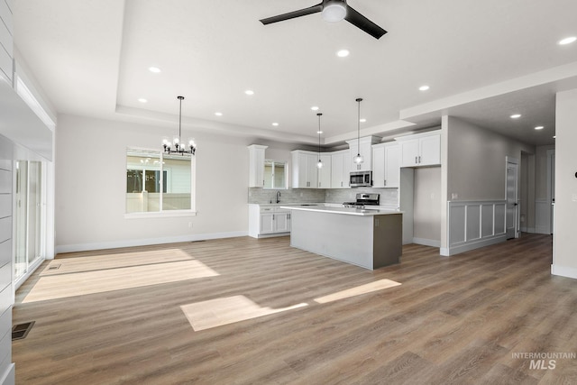
M 59 260 L 63 261 L 63 260 Z M 107 291 L 142 288 L 162 283 L 219 275 L 196 260 L 161 262 L 105 270 L 68 272 L 42 276 L 34 283 L 23 303 L 69 298 Z M 58 270 L 57 270 L 58 271 Z

